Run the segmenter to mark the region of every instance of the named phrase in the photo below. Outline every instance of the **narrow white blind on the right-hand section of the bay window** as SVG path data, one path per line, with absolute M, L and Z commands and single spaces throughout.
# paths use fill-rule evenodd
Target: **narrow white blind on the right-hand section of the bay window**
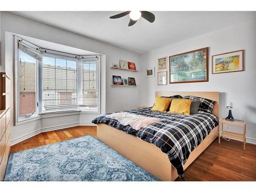
M 99 66 L 98 58 L 82 60 L 82 92 L 79 104 L 89 111 L 99 110 Z

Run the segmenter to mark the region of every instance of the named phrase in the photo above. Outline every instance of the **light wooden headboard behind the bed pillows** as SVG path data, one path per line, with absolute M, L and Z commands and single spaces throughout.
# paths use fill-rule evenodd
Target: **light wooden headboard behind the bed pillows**
M 212 111 L 212 113 L 219 118 L 220 92 L 174 92 L 174 91 L 157 91 L 156 92 L 156 97 L 172 96 L 172 95 L 181 95 L 182 97 L 186 95 L 192 95 L 196 97 L 203 97 L 206 99 L 217 101 L 214 105 L 214 110 Z

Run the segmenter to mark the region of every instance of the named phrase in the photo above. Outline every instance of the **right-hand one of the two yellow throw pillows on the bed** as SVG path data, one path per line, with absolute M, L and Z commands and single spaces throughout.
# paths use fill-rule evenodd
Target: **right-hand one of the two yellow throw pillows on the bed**
M 190 99 L 173 99 L 170 103 L 169 113 L 178 113 L 182 115 L 190 115 Z

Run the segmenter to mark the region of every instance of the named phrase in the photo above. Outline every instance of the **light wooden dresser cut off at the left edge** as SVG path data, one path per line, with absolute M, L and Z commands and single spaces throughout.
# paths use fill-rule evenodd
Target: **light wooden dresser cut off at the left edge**
M 3 181 L 8 157 L 11 148 L 11 108 L 10 108 L 10 78 L 5 74 L 0 74 L 0 94 L 1 109 L 0 110 L 0 181 Z

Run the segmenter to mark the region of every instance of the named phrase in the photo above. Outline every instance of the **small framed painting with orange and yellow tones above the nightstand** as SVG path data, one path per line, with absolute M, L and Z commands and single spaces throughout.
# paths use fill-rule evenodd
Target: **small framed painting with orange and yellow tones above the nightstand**
M 243 71 L 243 53 L 244 50 L 239 50 L 212 55 L 212 74 Z

